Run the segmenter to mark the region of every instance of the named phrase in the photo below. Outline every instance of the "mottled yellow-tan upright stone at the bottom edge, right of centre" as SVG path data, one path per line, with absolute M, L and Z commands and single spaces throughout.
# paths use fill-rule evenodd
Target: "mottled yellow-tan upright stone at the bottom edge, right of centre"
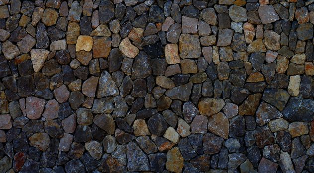
M 184 159 L 178 147 L 167 152 L 166 169 L 170 172 L 181 173 L 184 166 Z

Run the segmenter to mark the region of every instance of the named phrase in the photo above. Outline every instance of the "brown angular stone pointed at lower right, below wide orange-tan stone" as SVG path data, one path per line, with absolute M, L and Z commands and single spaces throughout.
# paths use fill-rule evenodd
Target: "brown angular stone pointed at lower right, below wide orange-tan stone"
M 214 114 L 208 118 L 208 130 L 225 139 L 229 136 L 229 120 L 222 112 Z

